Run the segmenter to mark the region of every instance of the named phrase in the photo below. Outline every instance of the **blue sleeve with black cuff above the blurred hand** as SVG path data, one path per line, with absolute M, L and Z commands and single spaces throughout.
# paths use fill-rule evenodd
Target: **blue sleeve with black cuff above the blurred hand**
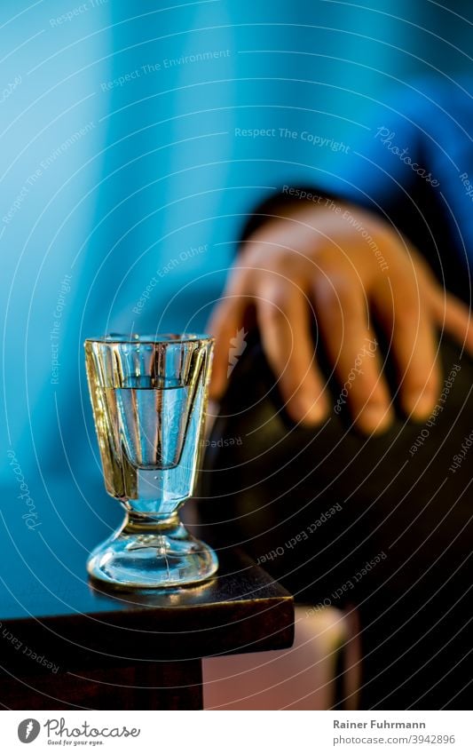
M 394 97 L 390 106 L 378 107 L 372 128 L 351 147 L 335 179 L 319 186 L 280 187 L 276 197 L 256 207 L 243 237 L 290 204 L 317 206 L 323 202 L 319 197 L 351 202 L 398 228 L 422 252 L 439 282 L 469 300 L 469 275 L 461 274 L 459 262 L 464 242 L 445 202 L 446 188 L 458 181 L 448 173 L 454 118 L 443 107 L 445 99 L 448 104 L 443 91 L 433 86 L 427 94 Z

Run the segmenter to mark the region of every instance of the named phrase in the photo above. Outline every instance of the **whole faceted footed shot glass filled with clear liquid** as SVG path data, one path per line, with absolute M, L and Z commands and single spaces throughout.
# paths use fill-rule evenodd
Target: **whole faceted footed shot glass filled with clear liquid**
M 87 378 L 106 491 L 122 527 L 87 560 L 115 587 L 176 587 L 215 574 L 216 553 L 177 509 L 193 493 L 202 446 L 213 339 L 115 336 L 85 341 Z

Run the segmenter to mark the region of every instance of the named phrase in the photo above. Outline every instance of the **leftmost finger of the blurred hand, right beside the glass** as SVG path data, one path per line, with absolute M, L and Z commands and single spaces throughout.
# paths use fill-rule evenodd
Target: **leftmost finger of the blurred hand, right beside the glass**
M 233 340 L 241 335 L 241 322 L 248 298 L 241 294 L 231 294 L 223 298 L 215 307 L 208 324 L 210 335 L 215 337 L 214 358 L 209 384 L 209 397 L 219 401 L 228 385 L 232 372 L 231 363 Z M 234 350 L 234 349 L 233 349 Z

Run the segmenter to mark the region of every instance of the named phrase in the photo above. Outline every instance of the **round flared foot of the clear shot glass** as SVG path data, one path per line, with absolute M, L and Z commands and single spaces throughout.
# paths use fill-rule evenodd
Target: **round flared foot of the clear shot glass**
M 91 552 L 89 574 L 115 589 L 162 589 L 201 583 L 217 571 L 216 553 L 174 514 L 167 520 L 128 514 L 122 528 Z

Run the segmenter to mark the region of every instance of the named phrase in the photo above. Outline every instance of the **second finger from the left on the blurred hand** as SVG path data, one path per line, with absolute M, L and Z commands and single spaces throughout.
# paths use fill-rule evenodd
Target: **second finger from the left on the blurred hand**
M 293 282 L 266 282 L 258 293 L 256 317 L 264 353 L 285 408 L 296 422 L 318 424 L 327 416 L 328 404 L 315 363 L 309 302 Z

